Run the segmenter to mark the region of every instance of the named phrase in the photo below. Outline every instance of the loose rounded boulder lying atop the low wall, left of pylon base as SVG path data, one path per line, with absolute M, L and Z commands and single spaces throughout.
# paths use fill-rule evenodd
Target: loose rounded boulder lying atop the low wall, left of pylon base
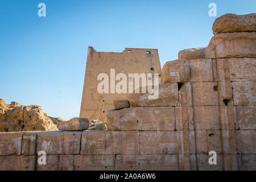
M 62 131 L 82 131 L 88 129 L 89 123 L 87 118 L 72 118 L 69 121 L 57 123 L 57 127 Z

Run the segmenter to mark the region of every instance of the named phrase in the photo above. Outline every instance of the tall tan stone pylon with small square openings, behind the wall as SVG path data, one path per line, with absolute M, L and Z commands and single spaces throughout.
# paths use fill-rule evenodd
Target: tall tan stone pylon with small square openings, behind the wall
M 110 75 L 110 69 L 114 69 L 114 75 Z M 106 73 L 109 78 L 109 93 L 99 93 L 97 80 L 100 73 Z M 118 73 L 127 76 L 127 93 L 110 93 L 110 79 L 114 79 L 115 85 L 120 80 L 116 79 Z M 129 85 L 134 85 L 134 80 L 129 73 L 159 73 L 162 74 L 158 49 L 125 48 L 123 52 L 98 52 L 93 47 L 88 48 L 84 89 L 82 92 L 80 117 L 106 121 L 106 111 L 114 109 L 114 100 L 127 100 Z M 147 79 L 150 79 L 147 77 Z M 141 80 L 141 79 L 140 79 Z M 131 82 L 132 81 L 132 82 Z M 141 82 L 141 81 L 140 81 Z M 160 81 L 159 81 L 160 82 Z M 133 87 L 135 88 L 135 86 Z

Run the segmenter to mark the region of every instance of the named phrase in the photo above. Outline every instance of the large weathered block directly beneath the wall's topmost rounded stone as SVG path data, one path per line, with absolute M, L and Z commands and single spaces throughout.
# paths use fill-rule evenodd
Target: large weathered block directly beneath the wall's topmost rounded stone
M 205 49 L 205 58 L 256 57 L 256 32 L 216 34 Z

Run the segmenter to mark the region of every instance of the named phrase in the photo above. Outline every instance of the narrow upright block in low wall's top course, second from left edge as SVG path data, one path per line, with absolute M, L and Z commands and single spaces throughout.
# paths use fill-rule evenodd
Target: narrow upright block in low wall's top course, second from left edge
M 22 136 L 22 155 L 35 155 L 36 154 L 36 133 L 26 132 Z

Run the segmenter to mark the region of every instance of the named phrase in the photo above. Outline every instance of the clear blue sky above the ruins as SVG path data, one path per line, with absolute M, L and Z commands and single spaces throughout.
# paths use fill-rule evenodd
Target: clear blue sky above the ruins
M 46 3 L 46 17 L 38 4 Z M 0 98 L 40 105 L 52 117 L 79 117 L 88 46 L 122 52 L 157 48 L 161 65 L 206 47 L 216 17 L 256 13 L 255 0 L 0 1 Z

